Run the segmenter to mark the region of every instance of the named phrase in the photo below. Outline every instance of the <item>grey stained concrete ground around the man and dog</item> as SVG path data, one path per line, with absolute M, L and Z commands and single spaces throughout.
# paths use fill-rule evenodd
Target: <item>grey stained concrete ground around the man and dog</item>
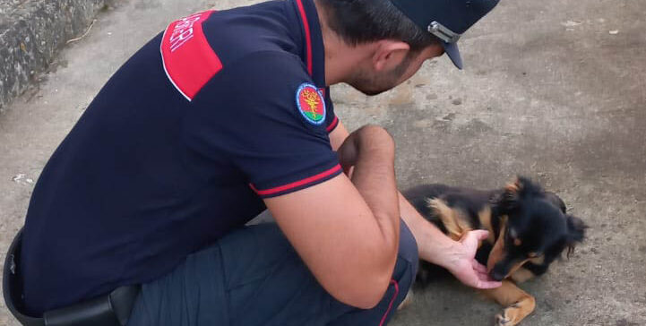
M 0 258 L 47 159 L 125 59 L 174 18 L 254 1 L 136 0 L 102 13 L 51 73 L 0 114 Z M 516 174 L 559 193 L 589 225 L 569 261 L 522 287 L 523 325 L 646 325 L 646 2 L 503 1 L 446 58 L 366 98 L 333 98 L 345 124 L 398 144 L 399 183 L 491 188 Z M 500 308 L 452 280 L 417 293 L 392 324 L 487 325 Z M 0 325 L 17 325 L 0 304 Z

